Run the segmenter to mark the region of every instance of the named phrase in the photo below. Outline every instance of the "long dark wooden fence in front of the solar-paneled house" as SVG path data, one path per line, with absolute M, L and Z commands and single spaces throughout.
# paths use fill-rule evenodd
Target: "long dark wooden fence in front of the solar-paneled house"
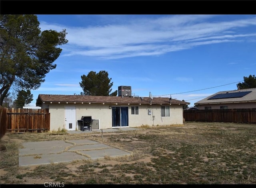
M 256 123 L 256 108 L 184 110 L 185 121 Z

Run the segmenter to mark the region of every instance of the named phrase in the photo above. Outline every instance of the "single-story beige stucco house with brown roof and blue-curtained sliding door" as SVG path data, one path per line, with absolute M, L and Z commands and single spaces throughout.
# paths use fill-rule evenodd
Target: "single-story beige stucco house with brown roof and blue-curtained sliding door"
M 119 95 L 119 94 L 118 94 Z M 39 94 L 36 106 L 49 108 L 50 131 L 80 130 L 82 116 L 91 116 L 92 129 L 183 124 L 182 106 L 189 102 L 134 96 Z

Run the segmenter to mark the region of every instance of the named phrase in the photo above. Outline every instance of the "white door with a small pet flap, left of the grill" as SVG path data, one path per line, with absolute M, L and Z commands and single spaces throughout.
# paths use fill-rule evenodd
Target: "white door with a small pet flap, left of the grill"
M 65 122 L 68 131 L 76 130 L 76 106 L 65 106 Z

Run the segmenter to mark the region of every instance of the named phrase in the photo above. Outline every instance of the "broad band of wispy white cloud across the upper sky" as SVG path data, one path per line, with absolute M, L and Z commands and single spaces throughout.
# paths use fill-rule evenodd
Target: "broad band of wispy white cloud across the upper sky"
M 40 23 L 42 30 L 66 28 L 68 44 L 63 55 L 101 59 L 161 55 L 213 43 L 255 41 L 256 33 L 239 29 L 256 25 L 256 17 L 209 21 L 218 15 L 156 16 L 89 27 Z M 222 15 L 223 16 L 223 15 Z M 227 35 L 228 33 L 228 35 Z M 248 40 L 250 39 L 250 40 Z

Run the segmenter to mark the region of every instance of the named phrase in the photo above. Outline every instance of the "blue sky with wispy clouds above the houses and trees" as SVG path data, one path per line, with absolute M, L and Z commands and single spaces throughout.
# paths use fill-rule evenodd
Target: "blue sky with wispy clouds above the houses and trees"
M 41 31 L 66 29 L 68 43 L 31 106 L 38 94 L 80 94 L 90 71 L 107 71 L 112 92 L 131 86 L 189 106 L 256 74 L 256 15 L 37 16 Z

